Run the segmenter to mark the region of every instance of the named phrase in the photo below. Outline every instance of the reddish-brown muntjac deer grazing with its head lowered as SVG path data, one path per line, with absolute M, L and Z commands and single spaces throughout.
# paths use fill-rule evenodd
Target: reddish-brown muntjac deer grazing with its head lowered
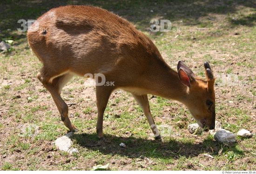
M 198 78 L 182 61 L 175 72 L 154 43 L 127 20 L 99 7 L 65 6 L 51 9 L 27 32 L 29 46 L 43 67 L 37 78 L 52 95 L 61 120 L 78 131 L 68 118 L 62 87 L 74 75 L 103 74 L 114 85 L 96 86 L 96 132 L 104 140 L 103 114 L 113 90 L 133 94 L 149 125 L 160 139 L 150 113 L 148 96 L 178 100 L 189 108 L 200 127 L 215 128 L 214 76 L 205 62 L 206 80 Z

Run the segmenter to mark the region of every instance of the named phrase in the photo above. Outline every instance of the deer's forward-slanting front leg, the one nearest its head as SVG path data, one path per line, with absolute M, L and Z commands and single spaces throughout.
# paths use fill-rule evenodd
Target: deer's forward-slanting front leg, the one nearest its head
M 140 95 L 133 94 L 133 96 L 134 96 L 135 100 L 138 102 L 138 104 L 140 105 L 140 107 L 142 108 L 144 114 L 146 115 L 146 117 L 148 119 L 149 126 L 152 129 L 155 139 L 156 140 L 161 139 L 160 132 L 157 129 L 155 121 L 150 112 L 149 103 L 148 103 L 148 95 L 140 96 Z

